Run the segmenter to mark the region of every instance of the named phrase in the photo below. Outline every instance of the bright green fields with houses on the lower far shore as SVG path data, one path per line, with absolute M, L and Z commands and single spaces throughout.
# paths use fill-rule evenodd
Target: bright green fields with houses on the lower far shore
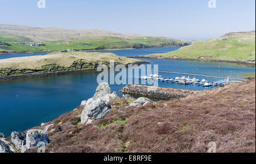
M 151 47 L 177 47 L 189 45 L 189 41 L 174 40 L 166 37 L 135 37 L 135 38 L 120 38 L 120 37 L 84 37 L 73 40 L 61 41 L 46 41 L 42 42 L 46 46 L 27 46 L 13 44 L 13 42 L 28 41 L 30 38 L 20 37 L 14 34 L 0 34 L 0 41 L 8 42 L 7 45 L 0 45 L 0 51 L 9 51 L 9 53 L 26 53 L 26 52 L 42 52 L 42 51 L 60 51 L 67 49 L 76 50 L 102 50 L 102 49 L 127 49 L 127 48 L 151 48 Z M 68 44 L 64 44 L 68 42 Z M 81 42 L 91 45 L 76 44 Z

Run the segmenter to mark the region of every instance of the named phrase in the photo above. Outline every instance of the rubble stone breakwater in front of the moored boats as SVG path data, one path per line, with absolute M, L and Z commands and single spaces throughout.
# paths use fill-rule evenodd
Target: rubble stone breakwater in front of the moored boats
M 170 100 L 174 98 L 187 97 L 188 95 L 193 94 L 195 91 L 129 84 L 119 92 L 133 97 L 148 97 L 157 100 Z

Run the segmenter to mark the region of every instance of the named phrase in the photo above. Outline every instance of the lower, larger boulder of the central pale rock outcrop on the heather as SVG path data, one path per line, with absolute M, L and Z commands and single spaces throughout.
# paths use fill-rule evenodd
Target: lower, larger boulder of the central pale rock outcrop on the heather
M 84 110 L 81 114 L 81 123 L 87 122 L 88 118 L 101 119 L 105 118 L 109 114 L 110 105 L 108 102 L 104 102 L 100 98 L 94 100 L 90 98 L 85 105 Z

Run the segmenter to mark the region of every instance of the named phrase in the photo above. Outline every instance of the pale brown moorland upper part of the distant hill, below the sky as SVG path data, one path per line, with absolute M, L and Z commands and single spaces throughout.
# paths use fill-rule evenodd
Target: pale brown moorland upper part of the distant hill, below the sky
M 27 27 L 22 25 L 0 24 L 0 34 L 10 33 L 28 37 L 33 41 L 70 40 L 71 38 L 112 36 L 120 38 L 141 37 L 139 34 L 121 34 L 100 29 L 62 29 L 56 27 Z

